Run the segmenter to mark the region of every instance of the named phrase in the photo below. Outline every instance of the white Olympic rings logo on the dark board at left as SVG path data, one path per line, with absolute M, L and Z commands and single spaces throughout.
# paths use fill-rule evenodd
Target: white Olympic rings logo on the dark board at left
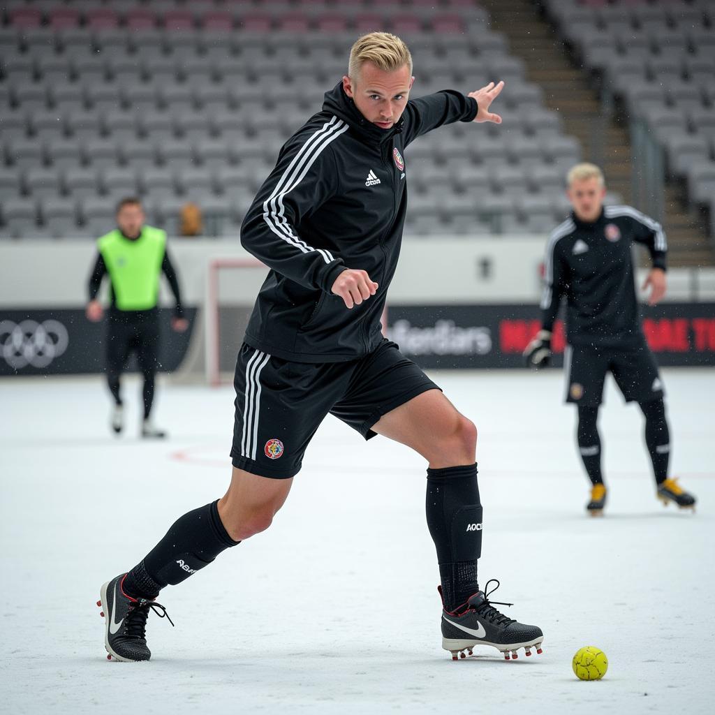
M 0 321 L 0 355 L 11 368 L 46 368 L 67 349 L 69 334 L 57 320 Z

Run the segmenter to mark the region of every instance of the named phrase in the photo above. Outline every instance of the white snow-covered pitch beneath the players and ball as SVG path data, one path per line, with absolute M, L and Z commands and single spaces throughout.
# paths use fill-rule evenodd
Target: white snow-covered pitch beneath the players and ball
M 0 384 L 0 711 L 11 713 L 711 712 L 715 696 L 715 373 L 663 370 L 672 471 L 699 498 L 656 501 L 642 418 L 613 383 L 601 414 L 606 517 L 560 371 L 432 373 L 478 425 L 480 583 L 543 628 L 542 656 L 440 648 L 425 464 L 327 418 L 272 528 L 159 600 L 149 663 L 106 660 L 99 587 L 179 515 L 224 493 L 232 389 L 161 385 L 165 442 L 110 435 L 99 378 Z M 603 681 L 571 657 L 598 646 Z M 583 710 L 586 711 L 586 710 Z

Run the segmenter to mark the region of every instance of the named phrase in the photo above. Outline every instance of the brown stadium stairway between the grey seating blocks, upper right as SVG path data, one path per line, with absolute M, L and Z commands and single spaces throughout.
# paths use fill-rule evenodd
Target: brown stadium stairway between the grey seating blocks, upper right
M 608 189 L 631 202 L 631 146 L 628 124 L 601 112 L 598 88 L 568 54 L 566 44 L 540 13 L 534 0 L 490 3 L 493 30 L 506 35 L 513 56 L 526 63 L 527 79 L 544 90 L 546 107 L 561 114 L 567 134 L 581 142 L 583 157 L 601 164 Z M 706 219 L 684 208 L 682 189 L 666 183 L 664 227 L 670 265 L 713 265 L 715 252 Z

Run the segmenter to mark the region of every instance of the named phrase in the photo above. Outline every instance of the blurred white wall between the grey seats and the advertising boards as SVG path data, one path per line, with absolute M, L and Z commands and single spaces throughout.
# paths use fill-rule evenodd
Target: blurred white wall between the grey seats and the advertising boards
M 402 304 L 530 303 L 541 292 L 539 266 L 546 237 L 407 238 L 390 300 Z M 96 255 L 87 240 L 0 242 L 0 307 L 79 307 Z M 217 258 L 250 258 L 237 239 L 174 238 L 187 305 L 201 305 L 207 267 Z M 251 301 L 265 270 L 224 270 L 222 300 Z M 671 270 L 669 300 L 714 300 L 715 268 Z M 166 302 L 167 290 L 162 295 Z

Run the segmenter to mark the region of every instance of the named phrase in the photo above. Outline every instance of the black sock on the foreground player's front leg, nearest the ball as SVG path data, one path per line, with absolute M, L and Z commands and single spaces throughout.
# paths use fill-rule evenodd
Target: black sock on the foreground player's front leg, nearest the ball
M 454 611 L 479 590 L 482 506 L 477 465 L 428 469 L 426 511 L 437 549 L 444 607 Z

